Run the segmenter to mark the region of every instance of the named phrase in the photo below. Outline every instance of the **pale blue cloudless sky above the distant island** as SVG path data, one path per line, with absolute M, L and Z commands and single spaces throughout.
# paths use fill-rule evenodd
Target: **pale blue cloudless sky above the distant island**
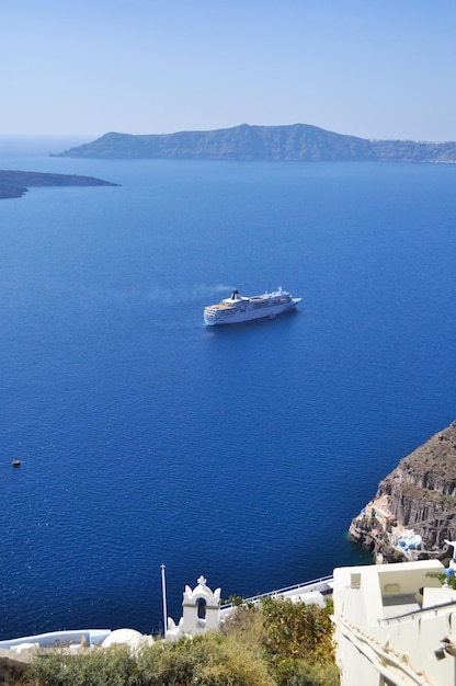
M 456 140 L 456 0 L 0 0 L 0 135 Z

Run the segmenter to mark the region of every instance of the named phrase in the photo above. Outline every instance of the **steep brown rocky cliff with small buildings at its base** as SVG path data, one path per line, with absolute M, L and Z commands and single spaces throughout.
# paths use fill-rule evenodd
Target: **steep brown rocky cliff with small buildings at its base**
M 400 460 L 350 526 L 377 561 L 451 558 L 456 540 L 456 422 Z

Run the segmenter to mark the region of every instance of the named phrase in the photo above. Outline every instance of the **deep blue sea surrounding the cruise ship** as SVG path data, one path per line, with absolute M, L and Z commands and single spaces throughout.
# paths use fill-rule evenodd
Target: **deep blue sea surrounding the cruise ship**
M 162 627 L 365 561 L 351 518 L 456 413 L 456 167 L 50 158 L 0 201 L 0 638 Z M 205 305 L 283 286 L 274 321 Z M 20 468 L 11 460 L 20 459 Z

